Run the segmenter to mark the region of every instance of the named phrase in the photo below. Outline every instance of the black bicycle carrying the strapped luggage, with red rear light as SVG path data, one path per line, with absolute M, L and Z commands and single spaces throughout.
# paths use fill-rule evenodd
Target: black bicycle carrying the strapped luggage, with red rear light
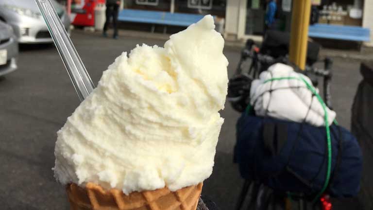
M 268 38 L 268 37 L 267 37 Z M 285 45 L 288 43 L 285 43 Z M 284 44 L 281 46 L 283 49 Z M 281 51 L 281 50 L 280 50 Z M 267 70 L 271 65 L 275 63 L 284 63 L 290 65 L 294 68 L 295 71 L 302 73 L 308 76 L 313 86 L 318 86 L 317 77 L 323 78 L 323 98 L 325 104 L 332 109 L 331 103 L 331 79 L 332 79 L 332 66 L 333 61 L 330 58 L 324 58 L 322 60 L 318 59 L 307 59 L 307 65 L 305 70 L 300 70 L 296 65 L 292 64 L 288 59 L 288 54 L 286 50 L 283 50 L 282 53 L 274 55 L 271 53 L 262 53 L 263 50 L 255 45 L 253 40 L 247 40 L 244 49 L 241 51 L 241 57 L 237 66 L 235 76 L 230 79 L 230 85 L 228 88 L 228 101 L 231 103 L 233 108 L 238 112 L 243 112 L 246 106 L 249 104 L 247 98 L 250 95 L 250 86 L 251 81 L 259 77 L 259 74 Z M 285 53 L 284 53 L 285 52 Z M 318 50 L 317 50 L 318 53 Z M 249 65 L 246 67 L 244 63 L 249 62 Z M 315 63 L 323 62 L 323 68 L 314 67 Z M 279 198 L 289 197 L 287 193 L 283 192 L 273 192 L 268 187 L 257 183 L 254 181 L 245 180 L 242 191 L 238 198 L 236 210 L 239 210 L 242 207 L 244 198 L 249 191 L 249 188 L 252 189 L 252 196 L 249 203 L 248 209 L 255 210 L 266 210 L 269 208 L 269 204 L 272 203 L 272 208 L 275 208 L 276 202 L 278 203 Z M 291 195 L 292 199 L 299 201 L 299 209 L 305 210 L 307 208 L 306 200 L 307 196 L 304 194 Z M 331 208 L 331 203 L 328 195 L 324 195 L 320 202 L 323 210 L 328 210 Z M 289 205 L 285 202 L 286 207 Z M 317 206 L 313 206 L 313 209 Z

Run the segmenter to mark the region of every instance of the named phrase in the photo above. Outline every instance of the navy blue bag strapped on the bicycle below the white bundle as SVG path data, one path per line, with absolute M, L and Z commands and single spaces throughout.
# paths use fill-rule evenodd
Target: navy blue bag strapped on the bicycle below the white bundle
M 360 189 L 362 154 L 345 128 L 330 126 L 332 164 L 326 192 L 355 196 Z M 316 194 L 327 173 L 325 127 L 243 113 L 237 122 L 235 162 L 244 179 L 275 191 Z

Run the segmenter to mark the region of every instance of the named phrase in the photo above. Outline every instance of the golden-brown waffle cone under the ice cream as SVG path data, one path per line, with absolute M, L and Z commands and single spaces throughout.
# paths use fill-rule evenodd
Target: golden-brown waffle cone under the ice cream
M 168 188 L 154 191 L 105 191 L 101 186 L 87 183 L 85 188 L 76 184 L 66 187 L 71 210 L 196 210 L 202 183 L 171 192 Z

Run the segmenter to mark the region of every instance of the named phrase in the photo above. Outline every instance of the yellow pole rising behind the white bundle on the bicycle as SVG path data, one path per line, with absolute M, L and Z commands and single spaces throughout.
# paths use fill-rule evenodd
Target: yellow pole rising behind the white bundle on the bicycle
M 301 70 L 305 69 L 310 13 L 311 0 L 293 1 L 289 59 Z

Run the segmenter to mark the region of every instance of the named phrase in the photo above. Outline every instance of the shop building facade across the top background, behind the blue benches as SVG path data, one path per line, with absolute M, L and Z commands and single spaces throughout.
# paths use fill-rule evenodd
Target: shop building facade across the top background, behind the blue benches
M 59 0 L 67 1 L 67 0 Z M 89 0 L 72 0 L 89 1 Z M 248 38 L 261 41 L 269 0 L 120 0 L 121 8 L 186 14 L 211 14 L 218 17 L 218 28 L 228 40 Z M 291 6 L 294 0 L 276 0 L 274 28 L 290 31 Z M 320 16 L 319 23 L 354 25 L 371 30 L 373 47 L 373 0 L 312 0 Z M 221 21 L 222 20 L 222 21 Z M 224 30 L 221 30 L 224 25 Z M 221 26 L 221 27 L 219 27 Z

